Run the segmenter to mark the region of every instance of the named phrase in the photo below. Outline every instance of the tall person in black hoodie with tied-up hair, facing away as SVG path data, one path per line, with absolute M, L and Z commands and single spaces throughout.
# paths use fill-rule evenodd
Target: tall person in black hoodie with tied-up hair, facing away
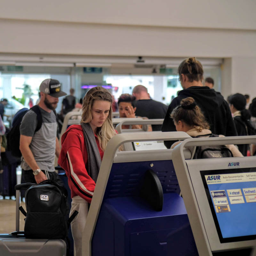
M 178 73 L 183 90 L 178 93 L 178 97 L 174 98 L 169 105 L 162 125 L 162 132 L 176 131 L 170 114 L 182 99 L 192 97 L 202 109 L 205 119 L 214 134 L 237 136 L 228 103 L 220 92 L 215 92 L 214 89 L 203 86 L 204 70 L 200 61 L 196 60 L 195 57 L 183 60 L 178 68 Z M 165 141 L 164 144 L 167 148 L 170 148 L 172 141 Z

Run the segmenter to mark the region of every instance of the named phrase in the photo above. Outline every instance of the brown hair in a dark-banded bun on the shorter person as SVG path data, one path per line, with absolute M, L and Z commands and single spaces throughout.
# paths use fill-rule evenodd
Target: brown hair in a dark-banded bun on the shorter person
M 180 105 L 172 110 L 171 117 L 175 123 L 181 120 L 189 126 L 194 126 L 198 132 L 210 128 L 205 121 L 204 114 L 192 97 L 181 100 Z

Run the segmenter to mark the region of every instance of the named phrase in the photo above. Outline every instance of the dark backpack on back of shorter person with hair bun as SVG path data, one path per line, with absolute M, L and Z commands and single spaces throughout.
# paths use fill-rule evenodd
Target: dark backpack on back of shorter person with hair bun
M 216 134 L 204 134 L 198 135 L 194 138 L 200 138 L 204 136 L 209 137 L 219 137 Z M 196 152 L 193 159 L 202 159 L 202 158 L 220 158 L 220 157 L 233 157 L 232 152 L 225 145 L 217 145 L 217 146 L 199 146 L 196 147 Z

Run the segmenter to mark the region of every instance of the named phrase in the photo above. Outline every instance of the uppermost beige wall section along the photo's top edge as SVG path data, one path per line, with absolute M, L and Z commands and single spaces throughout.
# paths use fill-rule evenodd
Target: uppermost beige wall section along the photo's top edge
M 190 28 L 255 29 L 252 0 L 1 0 L 0 18 Z

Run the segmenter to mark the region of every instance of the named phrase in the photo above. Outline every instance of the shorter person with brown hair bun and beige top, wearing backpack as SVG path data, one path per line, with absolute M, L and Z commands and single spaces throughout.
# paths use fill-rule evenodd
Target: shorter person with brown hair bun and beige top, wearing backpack
M 196 137 L 212 133 L 209 130 L 210 126 L 204 118 L 199 106 L 196 105 L 192 97 L 185 98 L 180 101 L 180 105 L 172 110 L 171 117 L 178 132 L 187 132 L 189 136 Z M 209 137 L 204 136 L 204 138 Z M 219 137 L 225 137 L 219 135 Z M 177 141 L 172 144 L 171 148 L 181 143 Z M 243 156 L 241 152 L 234 145 L 226 145 L 230 149 L 233 156 Z

